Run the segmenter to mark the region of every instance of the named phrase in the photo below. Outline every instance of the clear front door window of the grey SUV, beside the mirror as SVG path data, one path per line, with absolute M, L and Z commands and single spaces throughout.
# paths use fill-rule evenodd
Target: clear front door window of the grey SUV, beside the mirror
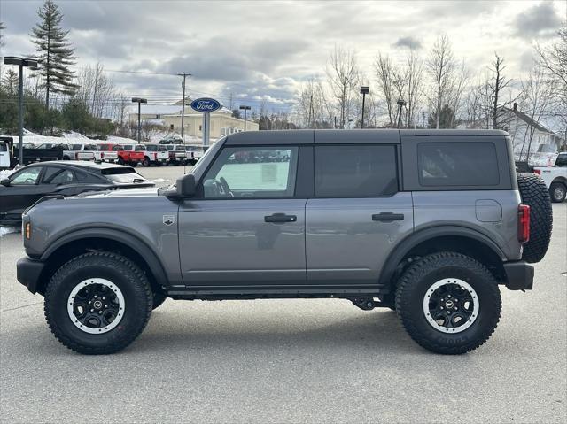
M 229 147 L 203 182 L 205 198 L 292 197 L 297 147 Z

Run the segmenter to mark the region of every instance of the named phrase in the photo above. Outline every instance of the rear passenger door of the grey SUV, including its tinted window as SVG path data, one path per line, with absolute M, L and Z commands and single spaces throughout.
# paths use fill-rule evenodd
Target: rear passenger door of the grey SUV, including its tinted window
M 411 193 L 399 190 L 398 148 L 315 144 L 315 198 L 306 207 L 308 282 L 376 285 L 393 247 L 413 231 Z

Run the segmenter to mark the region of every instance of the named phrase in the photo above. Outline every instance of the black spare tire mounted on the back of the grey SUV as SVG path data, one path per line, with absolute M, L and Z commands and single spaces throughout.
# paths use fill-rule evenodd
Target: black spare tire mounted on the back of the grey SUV
M 551 199 L 545 182 L 535 173 L 517 173 L 517 187 L 522 204 L 530 206 L 530 240 L 524 244 L 522 258 L 533 264 L 548 251 L 553 227 Z

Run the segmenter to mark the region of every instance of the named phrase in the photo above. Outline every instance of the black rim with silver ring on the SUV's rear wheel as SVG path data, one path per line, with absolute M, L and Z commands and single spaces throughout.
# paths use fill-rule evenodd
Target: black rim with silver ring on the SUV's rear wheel
M 479 303 L 475 289 L 456 278 L 439 280 L 423 296 L 425 319 L 443 333 L 460 333 L 478 317 Z

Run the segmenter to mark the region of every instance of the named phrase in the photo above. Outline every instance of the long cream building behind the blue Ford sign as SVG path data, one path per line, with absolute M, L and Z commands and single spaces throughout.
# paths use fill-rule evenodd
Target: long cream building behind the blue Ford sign
M 190 100 L 185 104 L 183 119 L 183 133 L 193 137 L 203 136 L 203 113 L 193 111 L 190 107 Z M 177 104 L 141 104 L 140 119 L 142 125 L 151 124 L 163 127 L 167 131 L 181 133 L 182 105 L 181 101 Z M 133 126 L 138 122 L 137 105 L 129 109 L 129 121 Z M 257 122 L 246 119 L 246 131 L 258 131 Z M 238 133 L 245 130 L 245 120 L 235 118 L 232 112 L 226 107 L 221 107 L 218 111 L 211 112 L 210 137 L 215 139 L 223 135 Z

